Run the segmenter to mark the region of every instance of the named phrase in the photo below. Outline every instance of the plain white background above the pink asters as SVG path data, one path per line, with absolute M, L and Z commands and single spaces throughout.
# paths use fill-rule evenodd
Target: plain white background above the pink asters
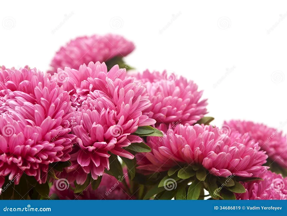
M 216 125 L 245 119 L 287 132 L 286 1 L 1 1 L 0 65 L 46 71 L 70 39 L 106 33 L 135 43 L 126 62 L 139 71 L 194 80 Z

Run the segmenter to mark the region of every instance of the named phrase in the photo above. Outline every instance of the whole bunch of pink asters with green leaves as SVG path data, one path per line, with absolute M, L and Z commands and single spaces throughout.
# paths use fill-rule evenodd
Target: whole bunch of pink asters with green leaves
M 287 199 L 287 138 L 216 127 L 193 81 L 143 73 L 133 42 L 93 35 L 46 73 L 0 67 L 0 199 Z

